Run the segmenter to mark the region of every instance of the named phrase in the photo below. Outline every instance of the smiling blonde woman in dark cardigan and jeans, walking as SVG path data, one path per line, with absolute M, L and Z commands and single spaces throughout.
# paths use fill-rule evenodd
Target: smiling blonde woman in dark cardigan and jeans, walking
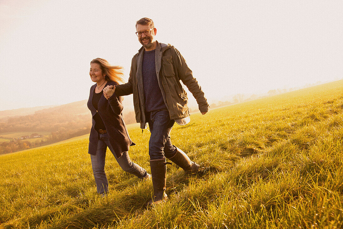
M 91 61 L 89 75 L 95 82 L 91 87 L 88 109 L 92 113 L 92 128 L 89 137 L 88 153 L 91 154 L 92 169 L 96 189 L 102 196 L 108 192 L 108 181 L 105 174 L 105 156 L 107 147 L 113 153 L 120 167 L 142 180 L 149 179 L 150 174 L 144 168 L 130 160 L 129 146 L 135 145 L 128 134 L 121 112 L 122 98 L 113 94 L 108 100 L 103 89 L 107 85 L 123 82 L 122 67 L 112 66 L 102 58 Z

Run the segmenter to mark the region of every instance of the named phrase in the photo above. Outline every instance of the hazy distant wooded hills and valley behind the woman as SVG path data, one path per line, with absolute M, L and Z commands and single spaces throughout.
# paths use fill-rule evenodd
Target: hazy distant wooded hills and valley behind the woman
M 132 96 L 123 100 L 123 118 L 126 123 L 135 123 Z M 31 112 L 31 113 L 30 113 Z M 21 113 L 30 113 L 19 116 Z M 92 116 L 87 100 L 55 107 L 34 107 L 9 111 L 0 120 L 0 154 L 35 148 L 90 132 Z M 29 138 L 31 135 L 39 138 Z

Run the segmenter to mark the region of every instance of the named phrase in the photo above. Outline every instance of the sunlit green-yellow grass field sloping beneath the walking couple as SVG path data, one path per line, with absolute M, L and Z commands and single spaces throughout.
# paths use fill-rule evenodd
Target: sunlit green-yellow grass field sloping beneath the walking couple
M 129 126 L 150 172 L 149 131 Z M 194 114 L 172 141 L 201 164 L 167 166 L 168 201 L 107 151 L 102 199 L 88 136 L 0 156 L 0 228 L 342 228 L 343 80 Z

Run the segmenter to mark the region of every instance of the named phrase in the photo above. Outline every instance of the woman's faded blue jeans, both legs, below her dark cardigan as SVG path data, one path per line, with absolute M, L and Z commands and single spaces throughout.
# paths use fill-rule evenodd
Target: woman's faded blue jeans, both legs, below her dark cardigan
M 114 155 L 119 166 L 125 172 L 136 175 L 139 178 L 142 178 L 147 175 L 147 172 L 144 168 L 133 163 L 130 160 L 128 152 L 123 152 L 123 155 L 119 158 L 116 156 L 109 142 L 107 133 L 99 134 L 96 154 L 91 154 L 92 169 L 95 178 L 96 189 L 99 194 L 104 195 L 108 192 L 108 181 L 105 174 L 105 157 L 107 147 Z

